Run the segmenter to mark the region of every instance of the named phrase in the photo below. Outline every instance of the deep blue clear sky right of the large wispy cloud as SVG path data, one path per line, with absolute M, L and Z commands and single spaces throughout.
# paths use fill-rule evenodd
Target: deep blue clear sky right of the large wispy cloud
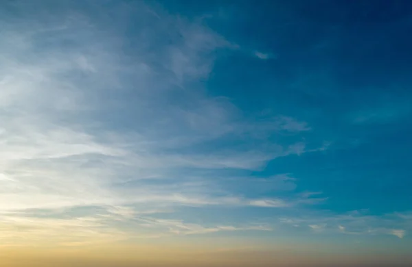
M 181 16 L 210 12 L 204 23 L 211 29 L 274 55 L 264 62 L 244 51 L 218 58 L 205 81 L 209 94 L 245 112 L 297 116 L 314 125 L 310 138 L 333 142 L 326 153 L 269 162 L 265 175 L 307 177 L 299 188 L 328 192 L 325 208 L 339 212 L 410 209 L 409 1 L 161 3 Z

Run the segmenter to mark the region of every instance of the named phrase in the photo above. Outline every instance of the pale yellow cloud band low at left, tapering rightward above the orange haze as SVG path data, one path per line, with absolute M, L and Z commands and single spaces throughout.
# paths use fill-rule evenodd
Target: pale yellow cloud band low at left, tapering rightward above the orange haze
M 159 218 L 168 210 L 139 207 L 70 207 L 2 212 L 2 244 L 80 246 L 140 238 L 216 233 L 220 231 L 271 231 L 262 223 L 221 225 Z M 156 216 L 156 217 L 155 217 Z M 19 231 L 17 231 L 19 230 Z

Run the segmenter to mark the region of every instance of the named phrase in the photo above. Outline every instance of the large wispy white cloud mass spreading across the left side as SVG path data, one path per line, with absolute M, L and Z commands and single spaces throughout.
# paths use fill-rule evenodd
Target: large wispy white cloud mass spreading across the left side
M 14 7 L 19 18 L 1 16 L 0 212 L 8 232 L 3 238 L 117 240 L 124 228 L 115 222 L 130 223 L 145 212 L 299 205 L 299 196 L 244 196 L 234 187 L 217 195 L 214 189 L 228 175 L 220 181 L 192 179 L 194 170 L 262 170 L 276 157 L 305 152 L 300 138 L 273 144 L 268 136 L 299 135 L 310 131 L 307 123 L 277 114 L 250 120 L 228 99 L 205 93 L 201 81 L 212 71 L 215 52 L 230 49 L 229 41 L 142 3 L 114 6 L 110 19 L 88 3 L 93 14 L 76 3 L 62 10 L 32 3 L 30 10 L 45 16 L 32 16 L 24 5 Z M 125 39 L 118 29 L 131 23 L 130 14 L 139 23 L 133 22 L 136 37 Z M 290 181 L 274 181 L 295 189 Z M 148 210 L 136 210 L 139 205 Z M 67 219 L 27 215 L 87 206 L 108 209 Z M 145 220 L 187 234 L 264 229 Z M 17 233 L 19 227 L 27 231 Z M 76 234 L 62 240 L 62 231 Z

